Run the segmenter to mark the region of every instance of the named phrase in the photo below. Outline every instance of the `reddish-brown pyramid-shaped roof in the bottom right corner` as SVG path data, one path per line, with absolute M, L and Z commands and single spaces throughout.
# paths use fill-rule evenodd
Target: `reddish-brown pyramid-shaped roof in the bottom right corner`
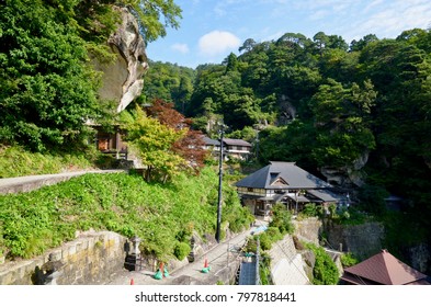
M 426 274 L 399 261 L 387 250 L 344 269 L 341 281 L 353 285 L 431 285 Z

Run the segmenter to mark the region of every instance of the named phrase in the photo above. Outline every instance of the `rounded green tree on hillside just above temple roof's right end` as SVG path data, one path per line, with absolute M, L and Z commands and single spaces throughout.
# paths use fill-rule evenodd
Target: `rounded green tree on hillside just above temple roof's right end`
M 317 144 L 313 155 L 319 166 L 349 166 L 374 149 L 370 114 L 376 92 L 371 82 L 344 88 L 329 80 L 310 101 L 315 114 Z

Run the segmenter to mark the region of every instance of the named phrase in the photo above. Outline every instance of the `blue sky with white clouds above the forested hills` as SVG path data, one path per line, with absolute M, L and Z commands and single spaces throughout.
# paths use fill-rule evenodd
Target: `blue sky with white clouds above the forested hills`
M 367 34 L 395 38 L 405 30 L 431 27 L 430 0 L 174 0 L 178 30 L 147 46 L 151 60 L 195 68 L 220 64 L 247 38 L 277 39 L 284 33 L 313 38 L 322 31 L 347 43 Z

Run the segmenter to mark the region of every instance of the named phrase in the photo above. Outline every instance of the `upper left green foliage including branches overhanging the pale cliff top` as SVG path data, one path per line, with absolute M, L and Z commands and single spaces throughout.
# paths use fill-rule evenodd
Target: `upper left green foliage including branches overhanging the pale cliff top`
M 118 22 L 114 5 L 136 14 L 147 41 L 178 27 L 181 18 L 172 0 L 3 2 L 0 143 L 37 151 L 80 144 L 88 138 L 86 123 L 106 115 L 88 53 L 112 58 L 105 42 Z

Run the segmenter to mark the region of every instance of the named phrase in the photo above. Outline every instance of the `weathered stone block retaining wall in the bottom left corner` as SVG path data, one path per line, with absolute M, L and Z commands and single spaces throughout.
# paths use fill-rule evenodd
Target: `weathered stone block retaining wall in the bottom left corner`
M 41 284 L 44 264 L 49 254 L 61 263 L 56 280 L 60 285 L 102 284 L 124 268 L 126 238 L 110 231 L 89 231 L 75 241 L 31 260 L 5 262 L 0 265 L 1 285 Z

